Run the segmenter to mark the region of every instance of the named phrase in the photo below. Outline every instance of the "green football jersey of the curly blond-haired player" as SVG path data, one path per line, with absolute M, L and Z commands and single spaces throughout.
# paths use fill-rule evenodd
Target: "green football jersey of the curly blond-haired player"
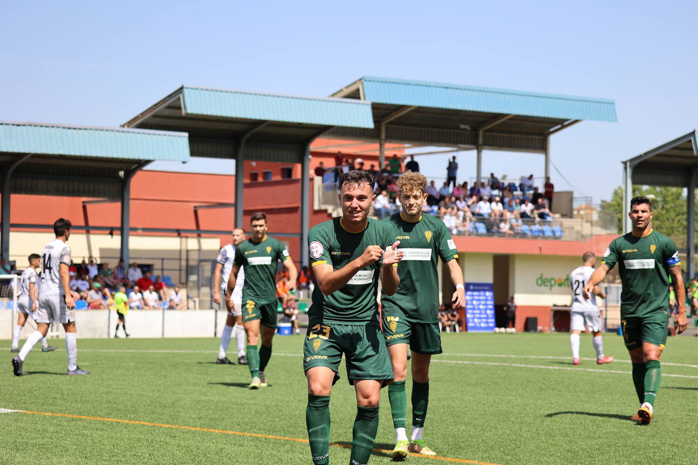
M 401 213 L 383 220 L 395 229 L 394 241 L 405 252 L 398 266 L 400 287 L 392 296 L 381 296 L 383 316 L 402 317 L 416 323 L 438 323 L 438 259 L 458 258 L 451 233 L 433 215 L 422 214 L 417 222 L 403 220 Z

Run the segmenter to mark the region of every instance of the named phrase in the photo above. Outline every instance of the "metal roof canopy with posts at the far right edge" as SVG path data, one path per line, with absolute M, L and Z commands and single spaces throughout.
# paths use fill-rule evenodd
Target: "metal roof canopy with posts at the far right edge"
M 687 188 L 686 196 L 686 270 L 688 278 L 695 273 L 695 190 L 698 187 L 698 130 L 688 132 L 666 144 L 625 160 L 623 163 L 623 212 L 630 211 L 632 185 L 664 185 Z M 623 214 L 623 231 L 630 232 L 632 224 Z

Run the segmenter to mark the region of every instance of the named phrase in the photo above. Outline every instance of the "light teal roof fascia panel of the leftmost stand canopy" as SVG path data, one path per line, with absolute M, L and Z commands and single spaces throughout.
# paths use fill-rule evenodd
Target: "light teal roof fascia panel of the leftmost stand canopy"
M 0 121 L 0 152 L 186 162 L 186 132 Z

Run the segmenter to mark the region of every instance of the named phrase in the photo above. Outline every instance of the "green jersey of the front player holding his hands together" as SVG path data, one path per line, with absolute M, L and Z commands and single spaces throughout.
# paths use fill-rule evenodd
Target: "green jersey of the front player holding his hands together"
M 339 270 L 350 261 L 361 257 L 369 245 L 385 250 L 395 242 L 395 232 L 386 222 L 368 218 L 366 229 L 349 232 L 341 218 L 325 221 L 313 227 L 308 234 L 311 265 L 329 264 Z M 378 280 L 383 259 L 364 266 L 341 289 L 325 296 L 319 286 L 313 291 L 313 305 L 308 314 L 335 324 L 378 324 Z

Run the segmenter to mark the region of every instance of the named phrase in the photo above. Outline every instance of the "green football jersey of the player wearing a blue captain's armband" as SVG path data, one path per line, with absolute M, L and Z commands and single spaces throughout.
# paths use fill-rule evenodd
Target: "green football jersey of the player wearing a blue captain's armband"
M 668 314 L 667 268 L 681 264 L 674 241 L 654 230 L 642 237 L 631 232 L 611 242 L 601 263 L 609 268 L 618 263 L 623 281 L 621 318 Z

